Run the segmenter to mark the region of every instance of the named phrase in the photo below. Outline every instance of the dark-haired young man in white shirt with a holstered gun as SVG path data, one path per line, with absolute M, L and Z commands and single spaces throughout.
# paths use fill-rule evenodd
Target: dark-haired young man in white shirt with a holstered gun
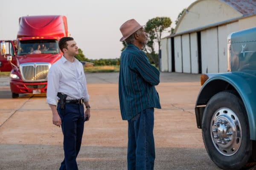
M 90 119 L 89 95 L 83 66 L 74 57 L 78 54 L 76 42 L 72 37 L 63 37 L 59 48 L 64 55 L 49 69 L 47 102 L 52 109 L 52 123 L 61 126 L 64 136 L 64 160 L 60 170 L 78 170 L 76 157 L 81 147 L 84 120 L 85 117 Z

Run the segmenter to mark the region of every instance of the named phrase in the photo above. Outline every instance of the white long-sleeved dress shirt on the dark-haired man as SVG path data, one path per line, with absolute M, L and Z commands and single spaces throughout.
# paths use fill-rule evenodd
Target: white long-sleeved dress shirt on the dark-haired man
M 68 61 L 64 56 L 55 62 L 48 72 L 47 102 L 57 105 L 57 93 L 67 94 L 67 100 L 84 99 L 89 101 L 84 68 L 81 62 L 74 58 Z

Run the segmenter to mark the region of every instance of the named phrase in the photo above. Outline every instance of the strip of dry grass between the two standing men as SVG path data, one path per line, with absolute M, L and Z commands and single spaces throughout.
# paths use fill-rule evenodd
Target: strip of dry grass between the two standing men
M 84 72 L 87 72 L 87 73 L 119 72 L 119 65 L 99 65 L 99 66 L 85 67 Z

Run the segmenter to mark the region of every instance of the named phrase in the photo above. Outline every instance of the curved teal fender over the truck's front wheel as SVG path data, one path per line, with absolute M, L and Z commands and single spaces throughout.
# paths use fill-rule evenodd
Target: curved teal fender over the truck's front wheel
M 250 127 L 250 139 L 256 140 L 256 76 L 245 72 L 216 74 L 204 83 L 195 104 L 198 128 L 201 128 L 204 108 L 218 92 L 234 90 L 244 103 Z M 232 99 L 231 99 L 232 100 Z

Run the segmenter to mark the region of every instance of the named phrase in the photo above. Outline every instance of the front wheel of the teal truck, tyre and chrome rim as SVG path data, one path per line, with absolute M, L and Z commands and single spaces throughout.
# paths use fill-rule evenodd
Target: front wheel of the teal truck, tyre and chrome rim
M 235 93 L 223 91 L 207 103 L 202 119 L 204 146 L 212 161 L 226 170 L 247 169 L 252 141 L 249 123 L 241 99 Z

